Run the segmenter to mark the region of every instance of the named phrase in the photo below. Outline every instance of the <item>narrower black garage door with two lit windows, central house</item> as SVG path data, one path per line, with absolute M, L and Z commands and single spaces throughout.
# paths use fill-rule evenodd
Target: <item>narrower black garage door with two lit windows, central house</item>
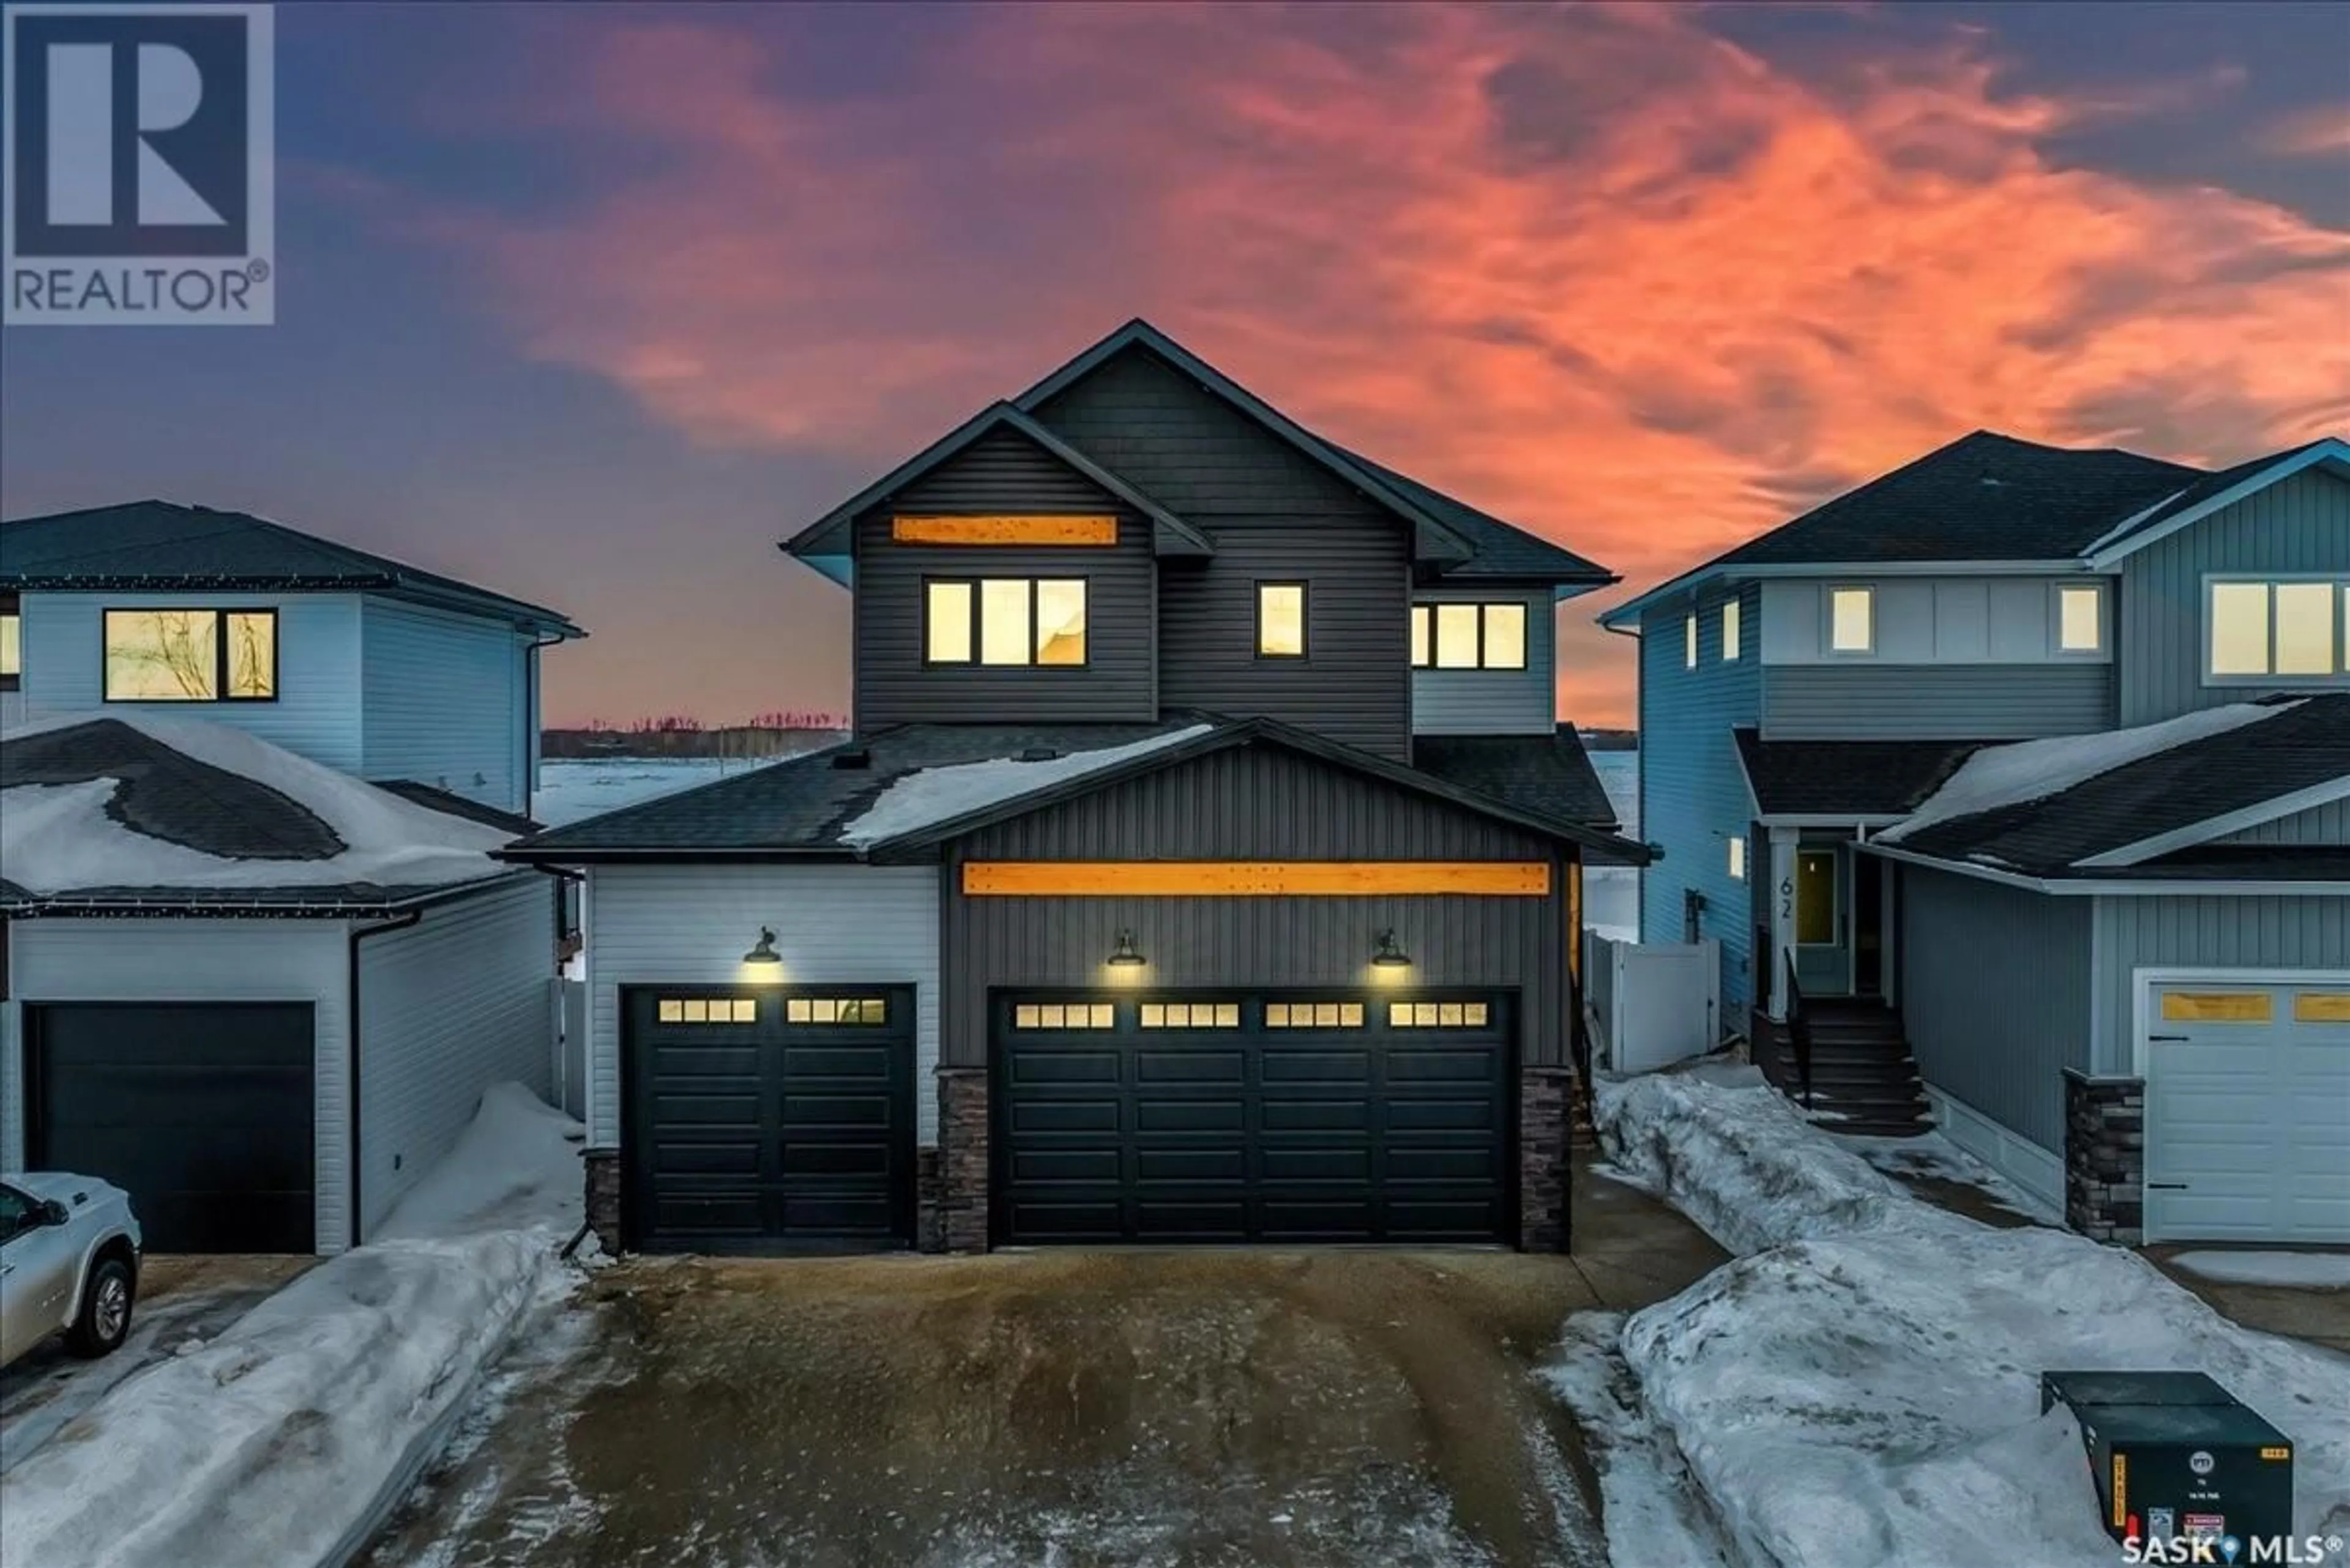
M 907 1246 L 914 990 L 625 987 L 627 1244 Z

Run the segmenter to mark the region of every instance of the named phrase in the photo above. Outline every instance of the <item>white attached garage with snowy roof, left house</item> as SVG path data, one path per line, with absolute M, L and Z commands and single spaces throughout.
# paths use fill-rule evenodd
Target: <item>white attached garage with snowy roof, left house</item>
M 550 1088 L 529 827 L 179 712 L 7 731 L 0 1168 L 113 1180 L 155 1253 L 367 1241 L 486 1086 Z

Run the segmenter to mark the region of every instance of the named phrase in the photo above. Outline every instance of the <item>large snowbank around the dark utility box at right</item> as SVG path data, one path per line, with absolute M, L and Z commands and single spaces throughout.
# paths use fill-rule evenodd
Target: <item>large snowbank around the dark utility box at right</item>
M 1612 1408 L 1591 1347 L 1560 1352 L 1563 1396 L 1631 1434 L 1600 1443 L 1631 1469 L 1603 1495 L 1636 1500 L 1619 1568 L 1664 1561 L 1640 1530 L 1692 1488 L 1730 1563 L 2108 1568 L 2080 1436 L 2040 1415 L 2052 1368 L 2211 1373 L 2296 1439 L 2296 1528 L 2350 1530 L 2350 1361 L 2134 1253 L 1922 1204 L 1751 1070 L 1600 1084 L 1596 1119 L 1617 1168 L 1741 1253 L 1624 1324 Z

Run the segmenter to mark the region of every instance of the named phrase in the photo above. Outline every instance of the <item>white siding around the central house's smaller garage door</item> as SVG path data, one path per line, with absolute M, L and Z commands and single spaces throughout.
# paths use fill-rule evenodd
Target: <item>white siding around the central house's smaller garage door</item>
M 743 985 L 776 931 L 790 985 L 912 985 L 916 1140 L 938 1143 L 935 865 L 597 865 L 588 870 L 588 1138 L 620 1143 L 620 987 Z

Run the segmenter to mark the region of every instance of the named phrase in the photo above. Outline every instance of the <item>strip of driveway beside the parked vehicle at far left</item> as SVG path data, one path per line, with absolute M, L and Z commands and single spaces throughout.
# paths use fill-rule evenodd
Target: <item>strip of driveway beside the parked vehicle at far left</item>
M 148 1255 L 139 1269 L 139 1305 L 122 1349 L 82 1361 L 63 1340 L 49 1340 L 0 1371 L 0 1474 L 141 1366 L 221 1333 L 313 1262 L 315 1258 Z

